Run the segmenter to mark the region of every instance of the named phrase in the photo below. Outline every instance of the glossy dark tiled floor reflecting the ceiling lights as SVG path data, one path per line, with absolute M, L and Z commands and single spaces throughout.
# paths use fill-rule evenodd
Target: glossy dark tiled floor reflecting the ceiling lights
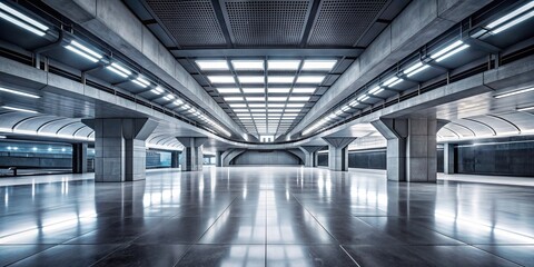
M 0 266 L 534 266 L 534 188 L 298 167 L 0 187 Z

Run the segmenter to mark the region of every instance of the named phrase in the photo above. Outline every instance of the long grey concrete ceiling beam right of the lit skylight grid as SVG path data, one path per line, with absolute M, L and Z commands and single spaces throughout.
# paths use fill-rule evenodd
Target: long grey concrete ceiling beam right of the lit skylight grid
M 491 0 L 412 1 L 323 95 L 290 135 L 300 132 L 326 110 L 490 2 Z

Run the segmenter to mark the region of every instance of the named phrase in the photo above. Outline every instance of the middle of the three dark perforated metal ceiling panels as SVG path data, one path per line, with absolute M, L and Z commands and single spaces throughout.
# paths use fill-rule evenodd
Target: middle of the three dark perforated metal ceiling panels
M 296 46 L 300 42 L 310 1 L 226 1 L 235 44 Z

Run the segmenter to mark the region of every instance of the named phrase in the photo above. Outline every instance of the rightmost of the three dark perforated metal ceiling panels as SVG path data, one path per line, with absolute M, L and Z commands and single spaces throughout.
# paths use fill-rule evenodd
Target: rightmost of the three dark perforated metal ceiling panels
M 387 0 L 324 0 L 309 46 L 354 46 L 374 22 Z

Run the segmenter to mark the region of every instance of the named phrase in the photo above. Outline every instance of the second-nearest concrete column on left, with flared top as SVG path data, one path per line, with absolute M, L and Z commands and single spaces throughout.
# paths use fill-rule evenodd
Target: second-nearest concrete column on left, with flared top
M 184 146 L 181 151 L 181 171 L 202 170 L 204 154 L 202 145 L 208 140 L 206 137 L 177 137 Z

